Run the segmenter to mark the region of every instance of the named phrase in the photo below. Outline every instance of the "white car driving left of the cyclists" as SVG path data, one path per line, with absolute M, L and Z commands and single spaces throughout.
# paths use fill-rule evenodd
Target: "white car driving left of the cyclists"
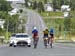
M 9 46 L 28 46 L 31 47 L 31 36 L 27 33 L 17 33 L 10 37 Z

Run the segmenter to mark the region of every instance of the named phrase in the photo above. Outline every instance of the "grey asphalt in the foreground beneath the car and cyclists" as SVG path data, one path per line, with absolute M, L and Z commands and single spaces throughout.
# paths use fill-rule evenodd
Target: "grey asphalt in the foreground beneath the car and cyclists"
M 38 48 L 34 49 L 26 47 L 9 47 L 4 46 L 0 48 L 1 56 L 75 56 L 75 48 L 58 46 L 55 44 L 54 48 L 44 48 L 42 43 L 38 44 Z

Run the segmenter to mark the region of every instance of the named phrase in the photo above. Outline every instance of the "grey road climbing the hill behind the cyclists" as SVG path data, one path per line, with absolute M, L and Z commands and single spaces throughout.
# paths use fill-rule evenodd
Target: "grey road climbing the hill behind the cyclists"
M 46 27 L 42 20 L 42 17 L 33 11 L 29 11 L 26 24 L 26 32 L 32 35 L 32 30 L 34 26 L 36 26 L 39 31 L 39 37 L 42 38 L 43 30 Z

